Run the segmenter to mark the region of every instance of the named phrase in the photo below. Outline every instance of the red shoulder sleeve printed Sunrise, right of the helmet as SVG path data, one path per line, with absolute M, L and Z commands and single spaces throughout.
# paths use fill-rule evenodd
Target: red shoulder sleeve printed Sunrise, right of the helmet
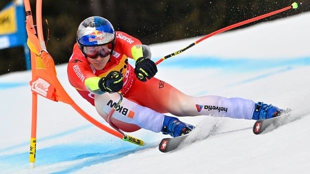
M 131 48 L 134 45 L 141 45 L 141 41 L 135 37 L 130 36 L 121 31 L 116 31 L 116 38 L 115 38 L 115 48 L 121 49 L 122 52 L 127 56 L 132 58 Z M 118 51 L 118 50 L 115 50 Z

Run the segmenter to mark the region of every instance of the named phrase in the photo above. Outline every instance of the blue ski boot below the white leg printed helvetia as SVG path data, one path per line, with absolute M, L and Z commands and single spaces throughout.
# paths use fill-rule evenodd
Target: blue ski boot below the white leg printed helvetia
M 276 106 L 263 104 L 262 102 L 257 102 L 255 104 L 254 112 L 253 112 L 253 120 L 265 120 L 273 117 L 277 117 L 284 112 L 283 109 L 279 109 Z

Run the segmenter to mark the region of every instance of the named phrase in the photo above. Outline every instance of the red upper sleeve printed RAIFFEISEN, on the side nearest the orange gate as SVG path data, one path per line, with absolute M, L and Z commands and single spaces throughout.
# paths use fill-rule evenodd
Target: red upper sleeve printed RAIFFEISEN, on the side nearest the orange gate
M 86 58 L 79 52 L 80 50 L 77 44 L 75 44 L 73 54 L 67 66 L 67 75 L 70 84 L 74 88 L 88 91 L 87 87 L 84 85 L 84 81 L 89 77 L 96 77 L 96 75 L 94 75 L 94 70 L 91 69 Z

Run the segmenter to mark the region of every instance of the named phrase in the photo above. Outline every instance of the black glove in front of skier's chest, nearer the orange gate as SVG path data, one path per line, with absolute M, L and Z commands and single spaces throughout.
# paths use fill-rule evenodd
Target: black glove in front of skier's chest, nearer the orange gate
M 109 72 L 106 77 L 99 80 L 99 88 L 103 92 L 118 92 L 123 85 L 122 74 L 118 71 Z

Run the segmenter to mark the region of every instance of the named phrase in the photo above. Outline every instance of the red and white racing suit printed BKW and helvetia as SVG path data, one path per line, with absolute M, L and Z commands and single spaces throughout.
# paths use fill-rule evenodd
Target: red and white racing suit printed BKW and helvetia
M 92 67 L 77 44 L 73 47 L 67 66 L 70 84 L 84 99 L 96 107 L 97 112 L 105 120 L 119 96 L 116 93 L 94 94 L 85 86 L 85 80 L 92 77 L 105 77 L 112 70 L 122 73 L 121 93 L 124 99 L 112 116 L 112 122 L 119 129 L 132 132 L 141 127 L 160 132 L 164 119 L 162 113 L 176 116 L 219 114 L 233 118 L 252 118 L 254 102 L 251 100 L 219 96 L 193 97 L 183 94 L 155 77 L 146 82 L 137 80 L 134 68 L 128 64 L 128 57 L 134 58 L 131 49 L 135 45 L 141 45 L 141 42 L 124 32 L 116 31 L 114 51 L 102 70 L 95 70 Z

